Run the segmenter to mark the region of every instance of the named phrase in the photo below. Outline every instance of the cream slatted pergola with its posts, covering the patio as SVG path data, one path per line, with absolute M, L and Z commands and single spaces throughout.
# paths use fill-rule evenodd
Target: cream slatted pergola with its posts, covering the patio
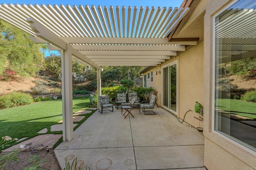
M 198 38 L 170 38 L 189 8 L 131 6 L 70 6 L 1 4 L 0 19 L 48 43 L 62 54 L 63 140 L 72 140 L 72 59 L 97 69 L 101 66 L 157 66 L 196 45 Z M 169 39 L 168 39 L 169 36 Z

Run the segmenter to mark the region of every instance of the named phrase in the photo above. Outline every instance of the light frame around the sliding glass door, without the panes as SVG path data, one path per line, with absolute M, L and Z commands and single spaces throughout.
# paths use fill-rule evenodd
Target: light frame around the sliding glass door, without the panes
M 170 66 L 176 64 L 176 111 L 170 109 Z M 164 106 L 164 69 L 168 67 L 168 107 Z M 178 115 L 178 59 L 162 66 L 162 106 L 170 112 Z

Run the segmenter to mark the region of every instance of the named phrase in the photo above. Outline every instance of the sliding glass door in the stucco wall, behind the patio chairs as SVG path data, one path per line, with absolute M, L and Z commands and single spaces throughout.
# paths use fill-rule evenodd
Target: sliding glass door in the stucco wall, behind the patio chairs
M 177 114 L 177 61 L 163 67 L 163 106 Z

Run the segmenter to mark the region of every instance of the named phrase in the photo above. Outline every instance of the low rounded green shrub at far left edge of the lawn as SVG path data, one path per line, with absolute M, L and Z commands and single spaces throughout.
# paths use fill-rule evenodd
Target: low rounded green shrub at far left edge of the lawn
M 10 107 L 28 105 L 34 100 L 31 95 L 20 92 L 12 92 L 0 97 L 0 109 L 6 109 Z

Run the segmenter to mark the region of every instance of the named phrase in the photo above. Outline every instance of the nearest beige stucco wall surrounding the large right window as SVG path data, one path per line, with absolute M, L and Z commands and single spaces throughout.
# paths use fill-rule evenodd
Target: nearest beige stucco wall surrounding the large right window
M 230 0 L 205 0 L 204 16 L 204 165 L 209 170 L 256 168 L 256 153 L 213 130 L 213 16 Z

